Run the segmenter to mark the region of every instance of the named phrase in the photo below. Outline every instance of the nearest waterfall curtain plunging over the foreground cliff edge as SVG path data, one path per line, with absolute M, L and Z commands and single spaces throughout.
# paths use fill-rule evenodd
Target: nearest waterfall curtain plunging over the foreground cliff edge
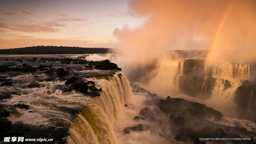
M 70 144 L 115 144 L 116 122 L 121 121 L 124 105 L 133 100 L 130 83 L 123 73 L 113 77 L 90 78 L 102 88 L 99 97 L 91 98 L 86 110 L 70 124 L 68 143 Z

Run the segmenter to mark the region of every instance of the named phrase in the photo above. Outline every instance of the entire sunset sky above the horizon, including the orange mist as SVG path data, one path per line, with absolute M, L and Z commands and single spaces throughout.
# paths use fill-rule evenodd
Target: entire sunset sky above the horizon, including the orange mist
M 255 0 L 2 0 L 0 49 L 53 45 L 123 48 L 139 55 L 166 49 L 250 54 L 256 49 L 255 9 Z

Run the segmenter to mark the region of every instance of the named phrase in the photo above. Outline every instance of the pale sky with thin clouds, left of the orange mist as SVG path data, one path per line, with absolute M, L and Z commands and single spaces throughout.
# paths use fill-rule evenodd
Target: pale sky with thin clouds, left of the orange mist
M 0 49 L 28 46 L 118 48 L 115 28 L 137 27 L 126 0 L 1 0 Z

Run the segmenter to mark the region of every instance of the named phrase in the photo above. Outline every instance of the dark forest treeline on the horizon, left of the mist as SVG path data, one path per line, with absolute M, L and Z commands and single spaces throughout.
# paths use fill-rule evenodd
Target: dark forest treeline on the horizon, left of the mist
M 32 46 L 0 49 L 0 55 L 106 54 L 111 52 L 113 52 L 113 48 L 85 48 L 67 46 Z

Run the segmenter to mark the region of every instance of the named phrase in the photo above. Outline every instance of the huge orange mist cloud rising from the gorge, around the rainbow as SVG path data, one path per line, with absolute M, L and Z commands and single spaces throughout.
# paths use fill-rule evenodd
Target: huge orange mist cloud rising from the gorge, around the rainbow
M 162 60 L 170 59 L 168 50 L 208 49 L 208 64 L 255 61 L 255 8 L 252 0 L 129 1 L 129 13 L 146 19 L 138 27 L 114 29 L 123 57 L 114 61 L 131 83 L 143 84 L 156 76 Z

